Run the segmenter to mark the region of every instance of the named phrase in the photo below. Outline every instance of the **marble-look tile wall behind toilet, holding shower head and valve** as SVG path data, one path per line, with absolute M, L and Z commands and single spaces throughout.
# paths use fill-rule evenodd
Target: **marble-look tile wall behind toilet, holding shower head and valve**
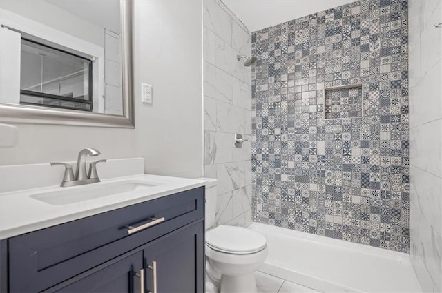
M 204 176 L 218 179 L 216 225 L 251 223 L 251 54 L 244 24 L 219 0 L 204 0 Z

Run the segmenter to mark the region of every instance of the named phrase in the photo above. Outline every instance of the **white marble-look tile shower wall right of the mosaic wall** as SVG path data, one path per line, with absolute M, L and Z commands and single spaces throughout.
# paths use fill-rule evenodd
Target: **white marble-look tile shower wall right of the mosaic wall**
M 442 1 L 410 0 L 410 254 L 442 292 Z

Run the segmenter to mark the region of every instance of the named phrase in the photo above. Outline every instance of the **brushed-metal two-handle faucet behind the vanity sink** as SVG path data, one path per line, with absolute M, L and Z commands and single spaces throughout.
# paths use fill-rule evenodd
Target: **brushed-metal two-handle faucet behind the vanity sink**
M 98 156 L 100 152 L 95 150 L 95 148 L 85 148 L 80 150 L 77 159 L 77 170 L 74 172 L 72 170 L 72 165 L 67 163 L 50 163 L 51 166 L 63 165 L 66 169 L 64 170 L 63 181 L 61 182 L 61 187 L 77 186 L 99 182 L 97 173 L 97 163 L 106 162 L 106 160 L 99 160 L 90 163 L 89 172 L 86 173 L 86 157 Z

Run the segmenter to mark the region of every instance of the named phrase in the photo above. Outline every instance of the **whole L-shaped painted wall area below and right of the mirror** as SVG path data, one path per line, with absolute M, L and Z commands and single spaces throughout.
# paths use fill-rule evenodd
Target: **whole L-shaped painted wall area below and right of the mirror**
M 136 1 L 134 22 L 135 130 L 17 124 L 0 165 L 75 161 L 90 147 L 143 156 L 148 173 L 202 175 L 202 3 Z M 140 82 L 153 85 L 153 105 L 141 103 Z

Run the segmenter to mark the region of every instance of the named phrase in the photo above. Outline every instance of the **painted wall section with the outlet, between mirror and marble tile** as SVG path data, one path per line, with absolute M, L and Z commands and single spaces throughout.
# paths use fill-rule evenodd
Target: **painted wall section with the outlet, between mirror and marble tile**
M 148 173 L 202 176 L 201 27 L 200 0 L 135 1 L 135 144 Z

